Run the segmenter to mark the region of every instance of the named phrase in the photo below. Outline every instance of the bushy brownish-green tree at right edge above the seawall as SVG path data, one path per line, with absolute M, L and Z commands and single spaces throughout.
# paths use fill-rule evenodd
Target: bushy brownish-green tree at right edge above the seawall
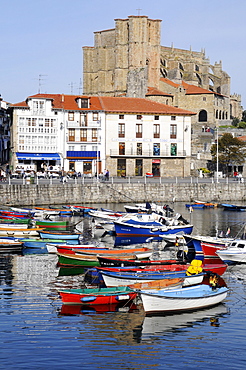
M 212 162 L 217 163 L 217 143 L 211 146 Z M 218 140 L 219 167 L 228 173 L 229 165 L 242 165 L 246 158 L 246 143 L 225 133 Z

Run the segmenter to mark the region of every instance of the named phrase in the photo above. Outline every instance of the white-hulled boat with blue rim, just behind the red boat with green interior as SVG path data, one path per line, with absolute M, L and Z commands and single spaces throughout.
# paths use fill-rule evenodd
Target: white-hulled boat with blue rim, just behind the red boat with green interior
M 186 272 L 165 272 L 165 273 L 117 273 L 112 271 L 101 271 L 104 283 L 107 287 L 121 286 L 121 285 L 133 285 L 136 283 L 147 283 L 153 280 L 160 279 L 173 279 L 173 278 L 184 278 L 183 286 L 200 284 L 203 281 L 204 274 L 196 274 L 186 276 Z

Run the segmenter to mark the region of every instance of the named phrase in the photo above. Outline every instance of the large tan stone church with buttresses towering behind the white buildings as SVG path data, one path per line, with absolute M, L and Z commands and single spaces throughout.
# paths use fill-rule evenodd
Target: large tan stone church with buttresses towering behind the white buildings
M 85 95 L 147 98 L 195 112 L 192 117 L 191 174 L 211 160 L 216 128 L 241 119 L 241 96 L 230 94 L 222 62 L 210 64 L 205 51 L 162 46 L 161 20 L 147 16 L 115 19 L 115 28 L 95 32 L 83 47 Z

